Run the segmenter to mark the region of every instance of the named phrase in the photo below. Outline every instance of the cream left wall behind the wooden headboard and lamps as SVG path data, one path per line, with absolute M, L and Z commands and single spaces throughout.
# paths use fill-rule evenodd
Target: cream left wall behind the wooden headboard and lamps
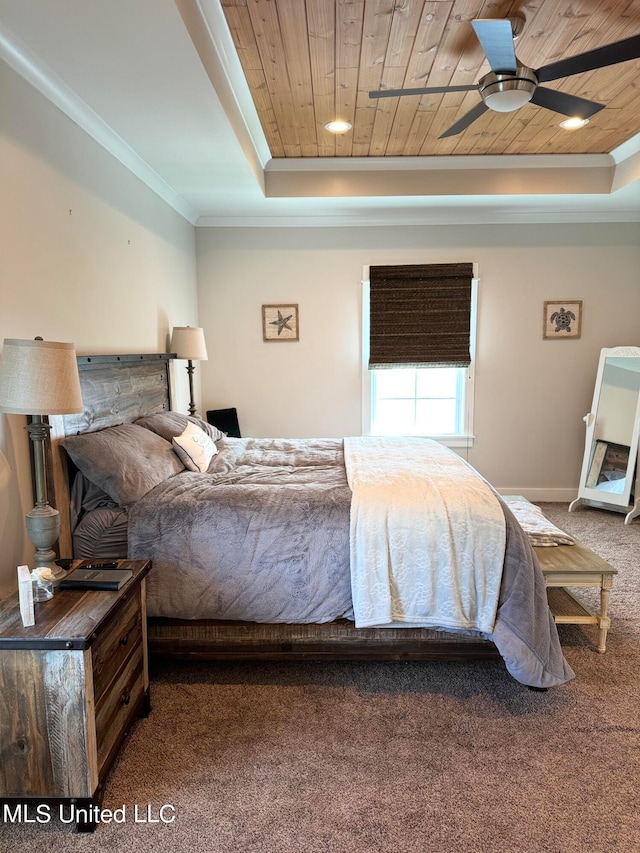
M 0 130 L 0 341 L 164 352 L 197 325 L 194 227 L 2 62 Z M 0 591 L 33 553 L 24 424 L 0 415 Z

